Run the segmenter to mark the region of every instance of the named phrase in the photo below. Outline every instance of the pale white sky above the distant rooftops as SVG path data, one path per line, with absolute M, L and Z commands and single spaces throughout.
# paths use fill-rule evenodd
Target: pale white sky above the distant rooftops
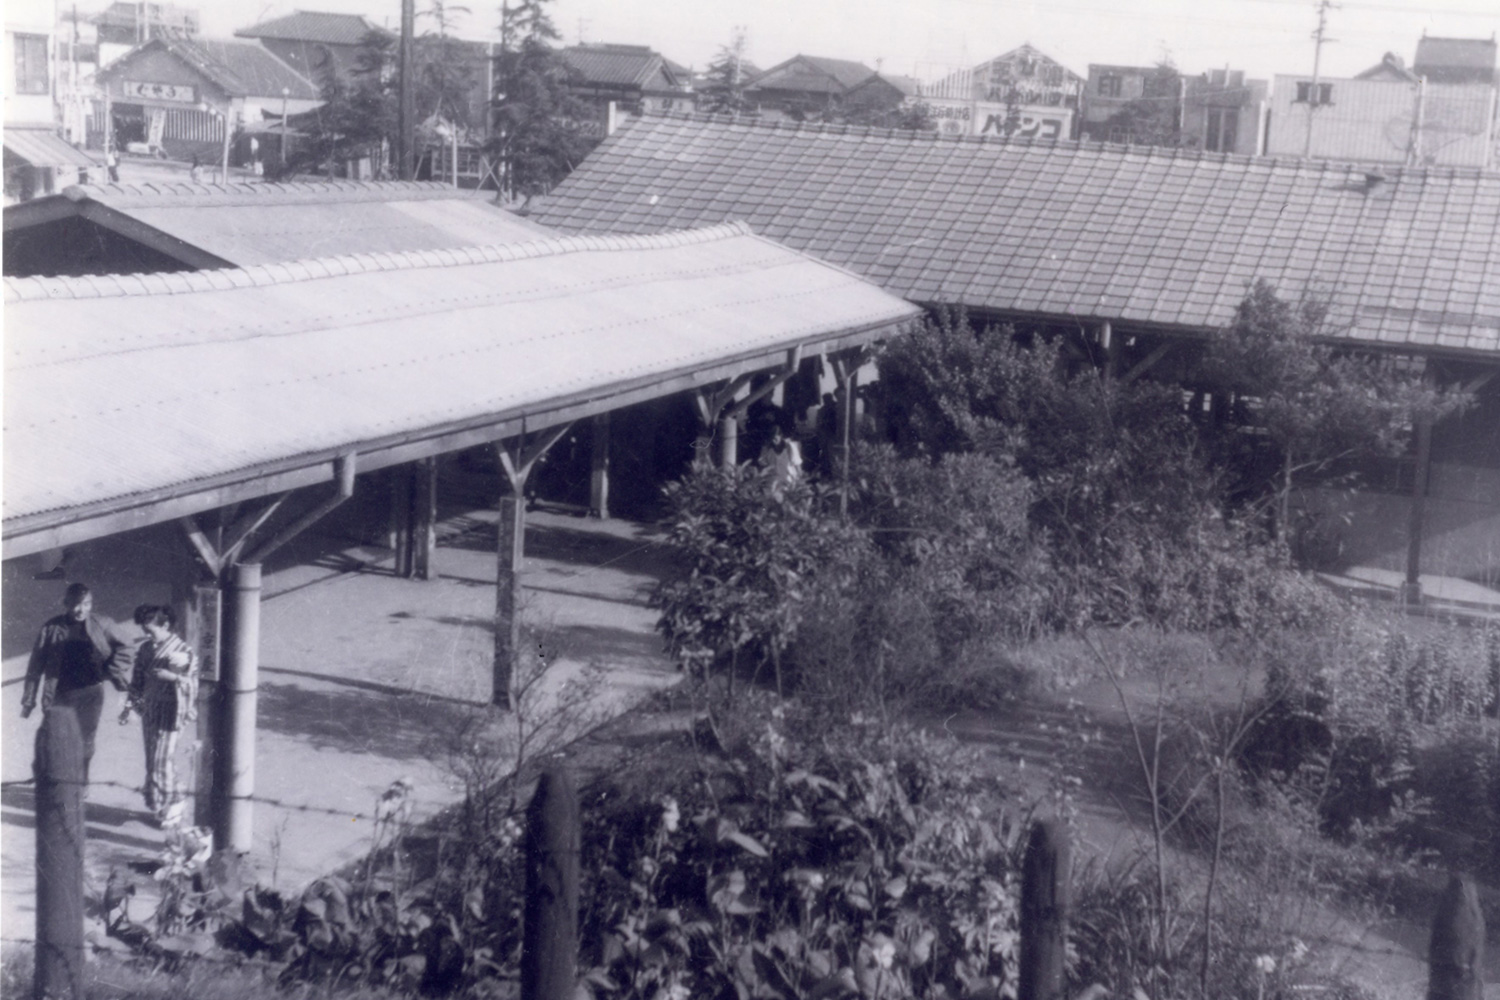
M 58 0 L 66 9 L 69 0 Z M 192 6 L 194 0 L 177 0 Z M 80 3 L 102 7 L 104 0 Z M 428 0 L 417 0 L 423 9 Z M 204 33 L 292 9 L 368 13 L 394 27 L 399 0 L 198 0 Z M 494 34 L 495 0 L 468 0 L 460 33 Z M 798 52 L 854 58 L 888 72 L 934 78 L 1030 42 L 1074 72 L 1089 63 L 1150 64 L 1162 54 L 1186 72 L 1230 66 L 1251 76 L 1308 73 L 1314 0 L 554 0 L 564 42 L 650 45 L 705 66 L 735 25 L 748 31 L 762 69 Z M 420 22 L 418 22 L 420 25 Z M 1341 0 L 1329 13 L 1323 72 L 1350 76 L 1392 51 L 1408 63 L 1428 34 L 1492 37 L 1500 0 Z

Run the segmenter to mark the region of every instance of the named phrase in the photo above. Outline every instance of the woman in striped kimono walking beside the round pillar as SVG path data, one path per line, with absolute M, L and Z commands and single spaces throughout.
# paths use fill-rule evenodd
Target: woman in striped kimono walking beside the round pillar
M 120 712 L 120 724 L 130 721 L 132 709 L 141 714 L 146 808 L 168 826 L 180 820 L 177 735 L 183 724 L 198 718 L 198 658 L 182 636 L 172 633 L 172 609 L 141 604 L 135 609 L 135 624 L 146 631 L 146 642 L 135 654 L 130 696 Z

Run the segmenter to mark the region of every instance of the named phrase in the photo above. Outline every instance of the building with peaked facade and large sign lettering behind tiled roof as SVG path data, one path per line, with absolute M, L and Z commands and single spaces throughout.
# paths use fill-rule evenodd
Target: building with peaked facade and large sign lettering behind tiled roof
M 922 87 L 938 130 L 1071 139 L 1083 78 L 1032 45 Z

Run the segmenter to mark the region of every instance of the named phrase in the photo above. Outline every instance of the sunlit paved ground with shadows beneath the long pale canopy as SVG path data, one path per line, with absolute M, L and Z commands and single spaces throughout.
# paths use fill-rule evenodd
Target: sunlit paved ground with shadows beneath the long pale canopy
M 262 882 L 297 889 L 364 855 L 375 802 L 398 778 L 414 786 L 414 820 L 459 801 L 464 747 L 478 733 L 514 751 L 512 717 L 488 706 L 494 522 L 486 510 L 446 516 L 438 576 L 428 582 L 394 577 L 386 549 L 339 547 L 327 538 L 312 558 L 267 567 L 250 855 Z M 549 663 L 544 681 L 528 693 L 531 721 L 588 729 L 680 676 L 646 607 L 663 568 L 652 531 L 621 520 L 530 516 L 525 619 Z M 104 613 L 128 619 L 136 603 L 166 600 L 146 549 L 170 541 L 136 532 L 82 546 L 69 576 L 94 588 Z M 14 561 L 4 564 L 3 579 L 0 937 L 8 942 L 34 933 L 28 778 L 39 717 L 20 718 L 21 678 L 32 637 L 57 613 L 64 588 L 60 580 L 33 580 L 33 570 L 30 561 Z M 144 775 L 140 726 L 116 723 L 122 697 L 106 696 L 92 774 L 93 891 L 111 868 L 150 861 L 165 843 L 136 790 Z M 180 760 L 186 757 L 180 750 Z

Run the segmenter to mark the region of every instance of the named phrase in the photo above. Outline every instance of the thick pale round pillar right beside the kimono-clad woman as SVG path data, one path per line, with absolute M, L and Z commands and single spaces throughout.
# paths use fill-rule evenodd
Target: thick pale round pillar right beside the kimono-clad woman
M 255 708 L 261 649 L 258 562 L 243 562 L 225 573 L 222 648 L 213 835 L 216 849 L 243 853 L 254 843 L 255 819 Z

